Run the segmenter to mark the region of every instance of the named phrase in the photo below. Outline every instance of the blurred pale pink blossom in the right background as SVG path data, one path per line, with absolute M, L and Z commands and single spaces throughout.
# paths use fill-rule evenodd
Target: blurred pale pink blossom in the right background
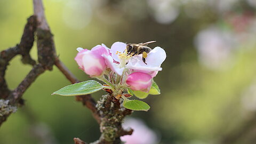
M 228 31 L 209 27 L 199 31 L 195 44 L 199 62 L 210 69 L 222 69 L 230 66 L 235 48 L 234 37 Z

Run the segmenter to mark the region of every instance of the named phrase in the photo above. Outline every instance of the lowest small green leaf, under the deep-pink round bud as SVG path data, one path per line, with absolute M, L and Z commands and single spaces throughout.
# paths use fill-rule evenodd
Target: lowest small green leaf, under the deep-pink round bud
M 127 98 L 124 98 L 123 106 L 131 110 L 148 111 L 150 109 L 150 106 L 146 102 L 139 100 L 129 100 Z

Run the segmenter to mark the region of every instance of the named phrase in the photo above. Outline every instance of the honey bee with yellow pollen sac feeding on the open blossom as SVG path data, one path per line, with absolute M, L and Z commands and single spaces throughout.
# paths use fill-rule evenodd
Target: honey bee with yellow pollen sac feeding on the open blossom
M 132 55 L 132 57 L 136 54 L 142 54 L 142 61 L 147 65 L 146 58 L 148 57 L 148 53 L 152 50 L 147 45 L 150 43 L 154 43 L 156 41 L 150 41 L 146 43 L 139 43 L 139 44 L 127 44 L 127 55 Z

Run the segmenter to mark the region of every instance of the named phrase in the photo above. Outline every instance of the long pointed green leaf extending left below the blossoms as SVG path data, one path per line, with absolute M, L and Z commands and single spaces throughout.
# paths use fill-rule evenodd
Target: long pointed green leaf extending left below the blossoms
M 97 92 L 102 89 L 102 85 L 97 81 L 85 81 L 63 87 L 62 89 L 53 92 L 65 96 L 84 95 Z

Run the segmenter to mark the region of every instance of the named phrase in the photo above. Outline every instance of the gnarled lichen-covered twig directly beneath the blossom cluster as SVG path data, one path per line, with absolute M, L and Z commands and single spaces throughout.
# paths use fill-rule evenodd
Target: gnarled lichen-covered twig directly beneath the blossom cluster
M 132 113 L 132 110 L 124 108 L 120 101 L 113 102 L 113 97 L 111 95 L 103 95 L 96 107 L 101 116 L 101 136 L 100 139 L 94 143 L 121 143 L 120 137 L 125 131 L 122 128 L 122 122 L 126 115 Z

